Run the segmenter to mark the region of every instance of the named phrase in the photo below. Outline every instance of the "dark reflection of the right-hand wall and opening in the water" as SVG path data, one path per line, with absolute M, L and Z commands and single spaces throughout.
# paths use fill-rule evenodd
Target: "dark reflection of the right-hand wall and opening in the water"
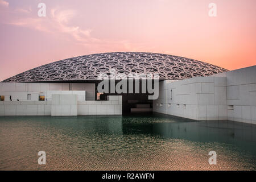
M 256 151 L 255 125 L 233 121 L 192 121 L 162 114 L 137 117 L 135 121 L 133 119 L 123 118 L 124 134 L 137 133 L 195 142 L 220 142 Z M 167 122 L 168 119 L 171 122 Z

